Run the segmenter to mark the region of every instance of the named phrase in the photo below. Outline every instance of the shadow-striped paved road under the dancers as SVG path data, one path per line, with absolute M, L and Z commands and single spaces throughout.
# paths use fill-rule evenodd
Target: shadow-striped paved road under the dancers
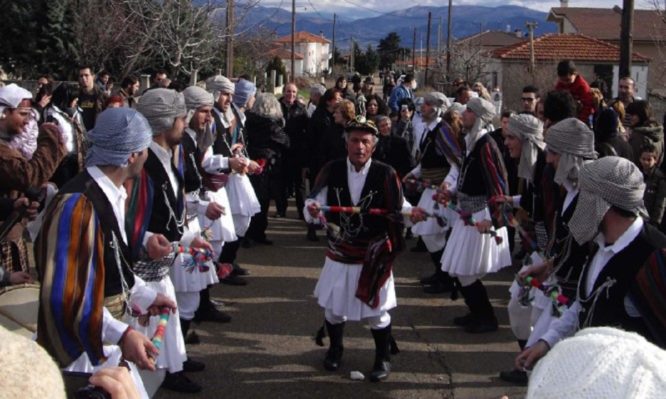
M 321 234 L 321 233 L 320 233 Z M 464 314 L 462 299 L 424 294 L 417 279 L 432 265 L 424 253 L 406 251 L 395 265 L 398 308 L 393 331 L 401 353 L 392 359 L 385 382 L 353 381 L 352 370 L 368 373 L 374 343 L 366 326 L 347 323 L 341 370 L 322 367 L 325 349 L 314 344 L 323 312 L 312 291 L 324 260 L 324 240 L 305 240 L 302 222 L 270 219 L 273 246 L 241 249 L 240 262 L 252 276 L 245 287 L 219 285 L 212 295 L 225 302 L 229 324 L 201 324 L 202 343 L 188 346 L 190 356 L 206 362 L 192 374 L 204 384 L 197 395 L 160 390 L 157 398 L 510 398 L 525 388 L 505 384 L 497 372 L 513 364 L 517 344 L 508 327 L 507 289 L 514 270 L 485 280 L 500 319 L 496 333 L 469 335 L 452 325 Z M 408 241 L 408 247 L 414 240 Z

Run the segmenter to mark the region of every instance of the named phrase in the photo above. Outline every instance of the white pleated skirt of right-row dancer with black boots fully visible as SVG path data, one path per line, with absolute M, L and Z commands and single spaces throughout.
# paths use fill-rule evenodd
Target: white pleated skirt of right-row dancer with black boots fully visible
M 474 220 L 490 220 L 485 208 L 473 215 Z M 462 219 L 453 224 L 453 231 L 442 255 L 442 270 L 452 276 L 478 276 L 496 272 L 511 265 L 511 251 L 506 227 L 497 231 L 497 243 L 490 234 L 481 234 L 475 226 L 466 226 Z

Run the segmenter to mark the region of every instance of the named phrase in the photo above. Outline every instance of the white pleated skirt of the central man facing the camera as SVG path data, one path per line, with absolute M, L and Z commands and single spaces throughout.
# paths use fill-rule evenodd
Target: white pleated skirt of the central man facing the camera
M 377 317 L 398 306 L 393 273 L 380 288 L 377 308 L 373 309 L 356 298 L 362 268 L 362 264 L 340 263 L 326 257 L 314 291 L 319 306 L 352 321 Z

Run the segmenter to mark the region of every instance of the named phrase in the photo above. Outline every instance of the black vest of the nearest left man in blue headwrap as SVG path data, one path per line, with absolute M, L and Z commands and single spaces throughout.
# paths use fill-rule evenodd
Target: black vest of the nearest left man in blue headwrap
M 110 297 L 123 292 L 119 270 L 122 271 L 127 286 L 132 288 L 134 285 L 134 274 L 131 271 L 131 264 L 128 263 L 131 262 L 130 249 L 123 241 L 123 236 L 120 233 L 121 226 L 118 226 L 118 220 L 113 213 L 113 207 L 102 189 L 87 171 L 83 171 L 60 189 L 60 193 L 83 193 L 93 204 L 104 239 L 104 296 Z M 122 228 L 125 227 L 122 226 Z M 120 268 L 116 263 L 112 232 L 115 234 L 120 246 Z

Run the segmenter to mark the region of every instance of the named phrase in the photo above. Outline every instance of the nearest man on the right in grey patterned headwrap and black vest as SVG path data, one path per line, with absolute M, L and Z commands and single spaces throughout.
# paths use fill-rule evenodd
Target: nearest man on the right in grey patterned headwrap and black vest
M 593 249 L 580 274 L 575 302 L 516 358 L 518 368 L 532 368 L 579 328 L 619 327 L 664 344 L 648 323 L 655 312 L 663 317 L 663 306 L 644 306 L 633 288 L 649 258 L 666 247 L 666 236 L 643 219 L 642 173 L 624 158 L 604 157 L 581 167 L 578 187 L 569 229 L 578 244 L 590 243 Z

